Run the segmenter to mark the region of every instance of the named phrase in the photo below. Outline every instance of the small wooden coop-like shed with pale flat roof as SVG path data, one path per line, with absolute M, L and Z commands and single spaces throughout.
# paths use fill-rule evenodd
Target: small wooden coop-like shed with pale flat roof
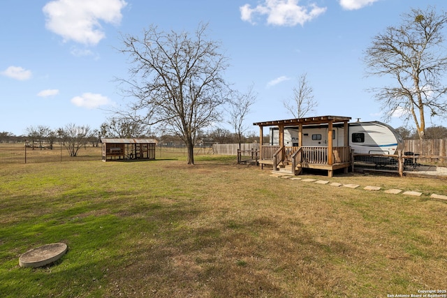
M 101 139 L 103 143 L 103 161 L 129 161 L 135 159 L 155 159 L 153 139 Z

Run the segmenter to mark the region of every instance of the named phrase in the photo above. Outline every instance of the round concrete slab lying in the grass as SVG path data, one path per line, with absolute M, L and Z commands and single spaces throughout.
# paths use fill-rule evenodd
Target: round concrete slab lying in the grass
M 19 258 L 20 267 L 42 267 L 57 261 L 67 251 L 64 243 L 52 243 L 33 248 Z

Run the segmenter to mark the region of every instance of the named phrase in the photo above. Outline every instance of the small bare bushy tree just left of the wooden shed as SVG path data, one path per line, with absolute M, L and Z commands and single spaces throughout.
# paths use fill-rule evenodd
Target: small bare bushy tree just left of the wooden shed
M 85 147 L 89 142 L 90 128 L 89 126 L 67 124 L 64 128 L 59 128 L 57 133 L 68 154 L 74 157 L 78 156 L 79 149 Z

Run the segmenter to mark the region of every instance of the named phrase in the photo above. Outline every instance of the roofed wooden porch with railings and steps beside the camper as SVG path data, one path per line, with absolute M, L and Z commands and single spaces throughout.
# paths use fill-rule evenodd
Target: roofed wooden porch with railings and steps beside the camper
M 328 176 L 332 177 L 333 171 L 344 169 L 348 171 L 351 166 L 351 149 L 348 139 L 348 122 L 351 117 L 320 116 L 298 119 L 274 120 L 256 122 L 253 125 L 259 126 L 259 144 L 261 157 L 259 163 L 272 165 L 273 170 L 300 174 L 304 167 L 318 170 L 328 170 Z M 332 146 L 332 127 L 334 124 L 342 124 L 344 128 L 344 146 Z M 327 146 L 303 146 L 302 129 L 308 125 L 328 126 Z M 279 145 L 263 145 L 263 128 L 265 126 L 277 126 L 279 128 Z M 284 145 L 284 128 L 288 126 L 298 126 L 298 147 Z

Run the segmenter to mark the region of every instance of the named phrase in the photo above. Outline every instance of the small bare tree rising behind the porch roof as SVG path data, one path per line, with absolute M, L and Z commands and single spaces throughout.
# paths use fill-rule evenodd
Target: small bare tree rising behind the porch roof
M 298 77 L 298 85 L 293 87 L 293 97 L 288 100 L 284 100 L 284 107 L 291 112 L 293 117 L 302 118 L 309 112 L 315 112 L 315 108 L 318 106 L 314 95 L 312 94 L 314 89 L 309 85 L 307 81 L 307 74 L 304 73 Z

